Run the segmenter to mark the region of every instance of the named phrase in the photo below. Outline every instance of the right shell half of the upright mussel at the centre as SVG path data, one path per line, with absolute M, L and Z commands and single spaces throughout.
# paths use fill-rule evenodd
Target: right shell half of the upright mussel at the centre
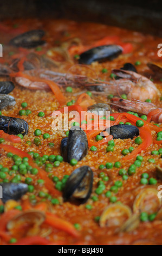
M 86 133 L 79 127 L 74 126 L 69 131 L 67 142 L 67 160 L 68 163 L 75 159 L 80 161 L 86 156 L 88 150 L 88 141 Z

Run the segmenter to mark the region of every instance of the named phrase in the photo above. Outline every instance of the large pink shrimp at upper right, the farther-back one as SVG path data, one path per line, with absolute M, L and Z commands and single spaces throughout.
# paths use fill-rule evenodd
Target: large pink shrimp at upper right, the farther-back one
M 141 101 L 147 99 L 155 100 L 159 96 L 159 90 L 147 77 L 133 71 L 120 69 L 114 69 L 112 72 L 121 78 L 119 80 L 98 83 L 98 86 L 102 86 L 103 92 L 98 92 L 97 94 L 126 94 L 129 100 L 135 99 Z

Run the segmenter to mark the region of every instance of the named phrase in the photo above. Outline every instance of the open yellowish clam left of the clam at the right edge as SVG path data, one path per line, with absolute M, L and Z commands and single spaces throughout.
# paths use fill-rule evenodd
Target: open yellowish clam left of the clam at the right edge
M 119 227 L 131 215 L 132 211 L 127 205 L 111 204 L 101 214 L 100 227 Z

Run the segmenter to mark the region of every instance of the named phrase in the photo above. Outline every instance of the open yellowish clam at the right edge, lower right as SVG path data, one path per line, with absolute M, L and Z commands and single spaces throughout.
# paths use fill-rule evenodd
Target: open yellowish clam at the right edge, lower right
M 161 199 L 158 198 L 157 189 L 147 187 L 140 191 L 133 203 L 133 212 L 147 212 L 153 214 L 160 209 Z

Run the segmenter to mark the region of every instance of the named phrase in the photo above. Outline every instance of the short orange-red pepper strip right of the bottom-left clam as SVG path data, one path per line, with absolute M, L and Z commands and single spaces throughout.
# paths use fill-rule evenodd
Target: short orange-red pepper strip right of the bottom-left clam
M 46 220 L 44 223 L 50 225 L 50 227 L 63 230 L 74 237 L 79 237 L 79 233 L 76 231 L 73 224 L 62 220 L 61 218 L 54 214 L 50 214 L 49 212 L 46 213 Z

